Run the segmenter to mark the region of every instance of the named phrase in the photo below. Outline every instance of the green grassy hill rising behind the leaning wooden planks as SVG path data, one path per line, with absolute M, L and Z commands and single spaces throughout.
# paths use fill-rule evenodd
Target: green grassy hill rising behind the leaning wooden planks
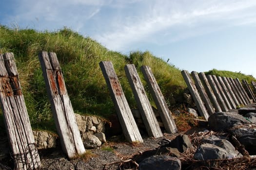
M 38 59 L 39 51 L 57 53 L 76 113 L 102 117 L 115 113 L 98 65 L 100 61 L 113 63 L 131 108 L 137 106 L 125 76 L 126 64 L 135 64 L 146 90 L 148 88 L 139 68 L 142 65 L 150 66 L 170 107 L 177 104 L 176 99 L 180 98 L 180 94 L 186 88 L 181 70 L 149 51 L 133 51 L 129 55 L 123 55 L 117 51 L 109 51 L 90 37 L 83 37 L 68 28 L 56 32 L 37 32 L 32 29 L 10 29 L 0 25 L 0 53 L 13 52 L 15 55 L 22 91 L 33 127 L 44 127 L 48 123 L 53 123 Z M 224 74 L 223 71 L 214 71 L 213 74 L 220 76 Z M 240 77 L 240 73 L 234 73 L 232 76 L 237 77 L 238 74 L 240 80 L 248 78 L 246 75 Z M 151 97 L 150 100 L 152 102 Z

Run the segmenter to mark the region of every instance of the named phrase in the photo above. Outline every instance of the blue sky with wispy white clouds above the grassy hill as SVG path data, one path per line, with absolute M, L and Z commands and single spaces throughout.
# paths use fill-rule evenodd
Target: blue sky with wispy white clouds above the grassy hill
M 1 0 L 0 24 L 64 26 L 110 50 L 151 51 L 177 68 L 256 77 L 256 0 Z

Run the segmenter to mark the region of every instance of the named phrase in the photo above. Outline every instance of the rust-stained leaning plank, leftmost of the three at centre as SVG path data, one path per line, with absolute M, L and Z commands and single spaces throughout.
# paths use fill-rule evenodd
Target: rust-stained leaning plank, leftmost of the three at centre
M 118 119 L 126 140 L 129 142 L 143 142 L 143 139 L 138 131 L 138 126 L 132 115 L 132 111 L 118 81 L 118 76 L 115 72 L 113 64 L 108 61 L 101 61 L 99 66 L 106 80 L 106 84 L 108 85 L 110 95 L 116 107 Z

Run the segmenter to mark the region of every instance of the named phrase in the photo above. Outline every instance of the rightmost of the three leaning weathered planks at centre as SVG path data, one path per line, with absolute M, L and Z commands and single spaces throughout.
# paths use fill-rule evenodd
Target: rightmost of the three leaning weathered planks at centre
M 148 66 L 141 66 L 142 74 L 149 86 L 149 90 L 153 96 L 156 106 L 159 111 L 159 116 L 163 122 L 164 128 L 168 133 L 176 133 L 177 126 L 174 119 L 172 118 L 171 112 L 165 102 L 164 96 L 158 86 L 156 78 Z

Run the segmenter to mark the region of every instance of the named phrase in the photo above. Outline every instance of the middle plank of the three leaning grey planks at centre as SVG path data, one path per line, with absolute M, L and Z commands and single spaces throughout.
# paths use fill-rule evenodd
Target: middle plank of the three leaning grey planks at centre
M 128 64 L 124 67 L 124 70 L 132 87 L 132 91 L 148 135 L 155 138 L 162 137 L 163 134 L 158 124 L 158 120 L 140 81 L 135 65 Z

